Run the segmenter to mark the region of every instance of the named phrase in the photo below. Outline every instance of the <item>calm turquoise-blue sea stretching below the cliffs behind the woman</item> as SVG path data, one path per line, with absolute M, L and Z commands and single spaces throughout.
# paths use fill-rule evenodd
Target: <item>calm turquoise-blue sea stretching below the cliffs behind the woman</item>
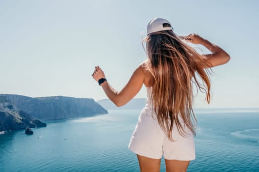
M 128 149 L 141 110 L 44 121 L 0 135 L 0 172 L 139 172 Z M 259 172 L 259 109 L 196 109 L 196 159 L 188 172 Z M 161 172 L 165 172 L 164 160 Z

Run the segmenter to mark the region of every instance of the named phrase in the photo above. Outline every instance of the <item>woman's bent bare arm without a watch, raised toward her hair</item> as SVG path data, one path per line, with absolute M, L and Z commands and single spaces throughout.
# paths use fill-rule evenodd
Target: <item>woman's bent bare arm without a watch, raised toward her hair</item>
M 212 54 L 203 55 L 204 58 L 211 63 L 212 66 L 210 67 L 225 64 L 230 59 L 230 56 L 222 48 L 211 43 L 207 39 L 202 38 L 198 34 L 189 34 L 188 36 L 185 36 L 185 40 L 193 44 L 201 44 L 212 52 Z

